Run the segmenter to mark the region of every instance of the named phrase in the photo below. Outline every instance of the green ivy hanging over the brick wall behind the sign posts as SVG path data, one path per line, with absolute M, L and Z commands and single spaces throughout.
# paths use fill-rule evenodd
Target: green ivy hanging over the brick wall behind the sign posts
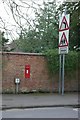
M 48 61 L 48 68 L 51 74 L 59 72 L 59 54 L 58 49 L 49 50 L 45 53 Z M 70 51 L 65 55 L 65 72 L 72 74 L 78 69 L 78 53 Z

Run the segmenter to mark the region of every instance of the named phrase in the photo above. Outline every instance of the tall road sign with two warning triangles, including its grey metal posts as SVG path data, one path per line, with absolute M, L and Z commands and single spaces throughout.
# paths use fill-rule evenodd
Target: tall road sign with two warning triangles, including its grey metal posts
M 59 18 L 59 94 L 64 95 L 64 62 L 65 54 L 68 54 L 69 43 L 69 14 L 63 14 Z M 62 89 L 62 90 L 61 90 Z

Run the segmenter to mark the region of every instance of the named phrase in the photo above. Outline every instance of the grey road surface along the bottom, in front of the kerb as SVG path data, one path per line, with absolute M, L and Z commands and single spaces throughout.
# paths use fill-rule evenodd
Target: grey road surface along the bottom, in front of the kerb
M 3 118 L 78 118 L 78 108 L 50 107 L 10 109 L 2 112 Z

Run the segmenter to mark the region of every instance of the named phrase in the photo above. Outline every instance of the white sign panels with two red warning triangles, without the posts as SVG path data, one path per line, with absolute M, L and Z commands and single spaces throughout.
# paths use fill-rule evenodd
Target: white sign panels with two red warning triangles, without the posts
M 59 18 L 59 54 L 68 53 L 69 45 L 69 19 L 70 15 L 62 15 Z

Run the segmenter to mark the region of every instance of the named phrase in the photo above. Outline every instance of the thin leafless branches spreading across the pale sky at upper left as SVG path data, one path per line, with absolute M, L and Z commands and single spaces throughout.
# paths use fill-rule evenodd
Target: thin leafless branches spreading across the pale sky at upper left
M 12 14 L 15 24 L 13 25 L 8 21 L 8 25 L 6 26 L 7 22 L 5 22 L 3 18 L 0 18 L 1 29 L 4 29 L 9 35 L 11 34 L 13 38 L 13 32 L 10 30 L 9 24 L 15 28 L 17 27 L 16 34 L 19 33 L 18 31 L 24 31 L 25 28 L 28 29 L 30 27 L 34 29 L 35 20 L 31 17 L 31 14 L 33 15 L 34 11 L 37 12 L 37 9 L 40 8 L 40 4 L 34 0 L 2 0 L 2 2 L 7 15 L 10 17 Z

